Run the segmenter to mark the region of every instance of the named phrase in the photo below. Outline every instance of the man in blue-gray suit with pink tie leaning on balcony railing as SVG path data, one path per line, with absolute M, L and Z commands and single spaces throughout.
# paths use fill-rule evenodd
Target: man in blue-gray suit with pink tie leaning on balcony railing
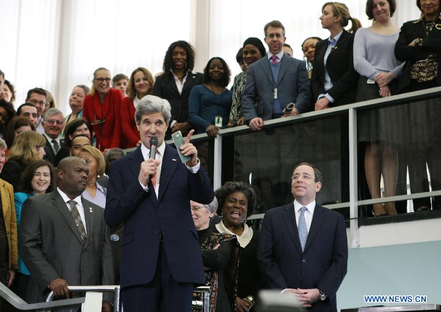
M 264 32 L 269 52 L 248 68 L 242 95 L 245 122 L 252 130 L 260 130 L 264 120 L 310 111 L 306 63 L 284 54 L 286 37 L 281 22 L 267 23 Z M 295 108 L 284 114 L 282 110 L 289 103 L 294 103 Z

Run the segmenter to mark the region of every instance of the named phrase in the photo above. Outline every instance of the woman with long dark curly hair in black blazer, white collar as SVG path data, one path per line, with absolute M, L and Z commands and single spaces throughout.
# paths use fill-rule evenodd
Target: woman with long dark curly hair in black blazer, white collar
M 164 72 L 156 78 L 153 87 L 153 95 L 168 100 L 172 106 L 172 119 L 166 140 L 176 131 L 181 131 L 185 136 L 192 129 L 188 122 L 188 97 L 194 86 L 202 84 L 204 77 L 200 72 L 192 72 L 194 67 L 194 47 L 182 40 L 173 42 L 164 57 Z

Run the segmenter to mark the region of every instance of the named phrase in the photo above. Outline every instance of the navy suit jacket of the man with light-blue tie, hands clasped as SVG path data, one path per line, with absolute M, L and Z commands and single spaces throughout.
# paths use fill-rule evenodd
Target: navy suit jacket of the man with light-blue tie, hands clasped
M 270 289 L 323 290 L 328 299 L 308 311 L 337 312 L 336 293 L 347 271 L 347 238 L 343 216 L 316 205 L 305 250 L 302 252 L 294 204 L 266 212 L 258 260 Z

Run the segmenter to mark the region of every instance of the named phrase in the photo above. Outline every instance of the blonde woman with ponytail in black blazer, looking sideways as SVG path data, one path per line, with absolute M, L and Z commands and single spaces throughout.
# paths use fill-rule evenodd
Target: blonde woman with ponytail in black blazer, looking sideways
M 326 2 L 321 12 L 321 26 L 331 32 L 331 37 L 319 41 L 314 53 L 311 89 L 317 101 L 316 111 L 355 102 L 359 77 L 354 69 L 352 45 L 354 33 L 361 27 L 360 21 L 352 18 L 347 6 L 340 2 Z M 343 27 L 349 20 L 352 27 L 348 32 Z M 334 43 L 328 44 L 332 40 Z M 326 74 L 330 78 L 327 83 Z

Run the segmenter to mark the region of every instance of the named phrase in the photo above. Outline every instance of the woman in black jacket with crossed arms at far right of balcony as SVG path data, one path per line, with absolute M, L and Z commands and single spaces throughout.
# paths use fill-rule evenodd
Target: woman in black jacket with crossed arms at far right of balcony
M 441 6 L 440 0 L 416 4 L 422 16 L 405 22 L 395 44 L 395 57 L 406 62 L 398 82 L 398 93 L 441 86 Z M 438 69 L 437 69 L 438 68 Z M 402 106 L 405 120 L 397 129 L 402 136 L 398 153 L 398 181 L 405 184 L 406 164 L 412 193 L 428 192 L 429 169 L 432 191 L 441 189 L 441 107 L 438 99 L 409 103 Z M 412 147 L 409 148 L 409 142 Z M 397 195 L 406 194 L 405 189 Z M 414 199 L 414 210 L 430 209 L 430 198 Z M 441 208 L 441 198 L 434 197 L 433 208 Z

